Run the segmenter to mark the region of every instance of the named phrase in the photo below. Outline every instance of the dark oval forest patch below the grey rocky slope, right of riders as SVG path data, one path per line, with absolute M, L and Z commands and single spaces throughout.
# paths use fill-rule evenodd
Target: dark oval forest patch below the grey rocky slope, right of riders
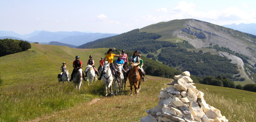
M 192 52 L 184 48 L 164 48 L 158 58 L 163 60 L 164 65 L 189 71 L 190 74 L 200 78 L 222 75 L 229 79 L 235 79 L 233 75 L 239 73 L 237 65 L 232 64 L 228 58 L 211 55 L 210 52 Z

